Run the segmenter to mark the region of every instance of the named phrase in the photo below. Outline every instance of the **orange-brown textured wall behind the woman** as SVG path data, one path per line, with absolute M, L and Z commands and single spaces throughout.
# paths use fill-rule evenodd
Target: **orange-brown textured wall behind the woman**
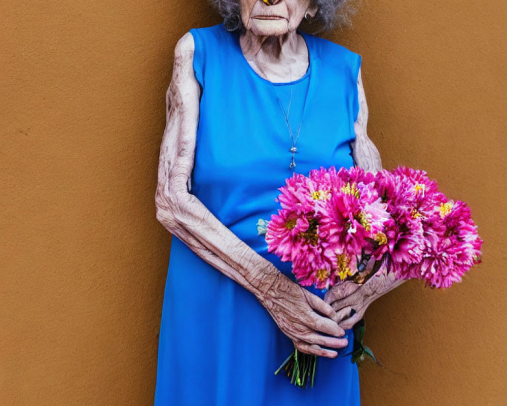
M 385 368 L 360 367 L 363 404 L 503 406 L 507 6 L 362 3 L 323 36 L 363 55 L 384 166 L 425 169 L 485 240 L 462 284 L 410 281 L 371 306 Z M 6 0 L 0 15 L 0 404 L 153 404 L 165 91 L 177 39 L 220 18 L 205 0 Z

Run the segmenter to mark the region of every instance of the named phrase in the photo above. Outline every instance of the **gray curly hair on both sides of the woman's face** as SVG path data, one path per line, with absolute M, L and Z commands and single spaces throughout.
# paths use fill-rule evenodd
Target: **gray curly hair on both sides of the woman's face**
M 309 21 L 303 20 L 302 25 L 307 26 L 309 33 L 328 31 L 335 25 L 352 25 L 350 17 L 355 14 L 354 0 L 311 0 L 318 6 L 317 13 Z M 220 15 L 224 18 L 224 26 L 228 31 L 244 31 L 241 21 L 239 0 L 210 0 Z

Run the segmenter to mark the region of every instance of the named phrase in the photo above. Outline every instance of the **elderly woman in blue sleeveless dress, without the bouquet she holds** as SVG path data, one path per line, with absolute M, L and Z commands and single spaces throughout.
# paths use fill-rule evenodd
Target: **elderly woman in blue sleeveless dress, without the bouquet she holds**
M 214 0 L 224 22 L 176 44 L 157 219 L 173 234 L 156 406 L 359 404 L 352 326 L 400 281 L 322 297 L 267 252 L 259 218 L 294 172 L 381 169 L 367 136 L 361 57 L 300 30 L 349 20 L 346 0 Z M 313 389 L 274 375 L 296 347 Z

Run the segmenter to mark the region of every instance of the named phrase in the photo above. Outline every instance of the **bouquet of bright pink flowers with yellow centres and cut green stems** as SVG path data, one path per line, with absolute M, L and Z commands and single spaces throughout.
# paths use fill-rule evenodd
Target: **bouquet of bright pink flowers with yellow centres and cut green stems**
M 259 219 L 257 229 L 269 252 L 292 262 L 301 286 L 325 292 L 345 281 L 364 283 L 385 265 L 396 279 L 447 288 L 481 262 L 483 240 L 469 208 L 448 199 L 425 171 L 321 166 L 285 182 L 276 199 L 281 209 L 269 221 Z M 313 387 L 316 358 L 295 349 L 275 374 L 285 367 L 292 383 Z

